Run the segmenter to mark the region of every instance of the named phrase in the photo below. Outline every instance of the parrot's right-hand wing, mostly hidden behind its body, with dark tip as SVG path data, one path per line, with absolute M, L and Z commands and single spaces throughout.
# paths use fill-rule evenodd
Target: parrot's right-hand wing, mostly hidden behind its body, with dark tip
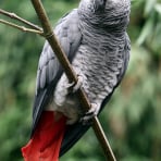
M 124 45 L 125 45 L 124 51 L 123 51 L 125 53 L 124 58 L 123 58 L 124 64 L 123 64 L 122 71 L 120 72 L 120 75 L 117 76 L 117 84 L 115 85 L 115 87 L 113 88 L 111 94 L 108 95 L 107 98 L 102 101 L 101 109 L 100 109 L 99 113 L 101 112 L 101 110 L 104 108 L 104 106 L 110 100 L 114 89 L 121 83 L 121 81 L 125 74 L 125 71 L 127 69 L 127 64 L 129 61 L 129 50 L 131 50 L 131 41 L 129 41 L 127 34 L 125 34 Z M 74 144 L 88 131 L 89 127 L 90 127 L 90 125 L 83 125 L 79 122 L 77 122 L 73 125 L 69 125 L 67 131 L 65 132 L 65 136 L 62 141 L 60 157 L 63 156 L 72 146 L 74 146 Z

